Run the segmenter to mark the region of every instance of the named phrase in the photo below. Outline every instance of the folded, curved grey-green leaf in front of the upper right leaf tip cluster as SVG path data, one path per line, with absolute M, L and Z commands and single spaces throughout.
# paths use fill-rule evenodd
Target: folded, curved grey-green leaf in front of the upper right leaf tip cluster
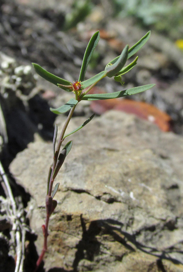
M 125 46 L 118 60 L 114 64 L 112 65 L 109 64 L 105 68 L 105 71 L 107 71 L 107 76 L 108 77 L 115 76 L 125 65 L 127 57 L 128 57 L 128 45 Z

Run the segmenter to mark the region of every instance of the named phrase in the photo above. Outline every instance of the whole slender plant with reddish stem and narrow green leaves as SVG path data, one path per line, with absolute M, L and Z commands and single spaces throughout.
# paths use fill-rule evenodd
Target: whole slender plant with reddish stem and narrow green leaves
M 90 79 L 84 80 L 85 73 L 87 70 L 88 63 L 91 59 L 91 56 L 93 54 L 93 51 L 98 44 L 99 41 L 99 31 L 97 31 L 90 39 L 87 49 L 84 53 L 83 62 L 81 65 L 81 70 L 79 74 L 79 78 L 77 81 L 74 81 L 74 83 L 71 83 L 65 79 L 62 79 L 58 76 L 55 76 L 46 70 L 44 70 L 41 66 L 39 66 L 36 63 L 33 63 L 33 66 L 36 70 L 36 72 L 42 76 L 44 79 L 48 80 L 49 82 L 55 84 L 56 86 L 62 88 L 65 91 L 68 92 L 74 92 L 75 98 L 71 98 L 65 105 L 62 105 L 59 108 L 53 109 L 50 108 L 52 112 L 55 114 L 61 114 L 69 111 L 68 117 L 65 121 L 65 124 L 62 128 L 62 132 L 60 134 L 58 144 L 56 146 L 56 138 L 57 138 L 57 125 L 55 125 L 55 132 L 53 137 L 53 164 L 49 168 L 49 174 L 48 174 L 48 181 L 47 181 L 47 195 L 46 195 L 46 222 L 45 225 L 42 226 L 43 228 L 43 235 L 44 235 L 44 244 L 43 244 L 43 250 L 41 255 L 39 256 L 37 263 L 36 263 L 36 269 L 38 269 L 41 261 L 43 260 L 44 254 L 47 250 L 47 237 L 48 237 L 48 224 L 49 224 L 49 218 L 54 209 L 57 206 L 57 201 L 53 199 L 55 197 L 55 194 L 58 190 L 59 183 L 56 183 L 54 190 L 53 183 L 54 180 L 58 174 L 58 171 L 60 170 L 65 157 L 68 155 L 69 151 L 72 147 L 72 141 L 69 141 L 60 151 L 62 142 L 65 140 L 66 137 L 73 134 L 74 132 L 78 131 L 79 129 L 83 128 L 85 125 L 87 125 L 92 118 L 94 117 L 94 114 L 88 118 L 82 125 L 80 125 L 75 130 L 71 131 L 70 133 L 65 135 L 66 128 L 68 127 L 69 121 L 71 120 L 71 117 L 73 115 L 73 112 L 77 106 L 77 104 L 82 100 L 101 100 L 101 99 L 112 99 L 112 98 L 118 98 L 122 96 L 130 96 L 132 94 L 136 94 L 138 92 L 143 92 L 145 90 L 150 89 L 155 84 L 148 84 L 144 86 L 134 87 L 128 90 L 121 90 L 118 92 L 113 93 L 104 93 L 104 94 L 87 94 L 93 86 L 96 85 L 99 80 L 103 79 L 104 77 L 114 77 L 114 79 L 117 82 L 120 82 L 121 85 L 123 85 L 122 82 L 122 75 L 130 71 L 137 63 L 138 57 L 136 57 L 130 64 L 125 66 L 126 61 L 133 56 L 149 39 L 150 37 L 150 31 L 147 32 L 147 34 L 142 37 L 134 46 L 132 46 L 130 49 L 128 48 L 128 45 L 125 46 L 120 56 L 116 57 L 115 59 L 111 60 L 110 63 L 108 63 L 104 69 L 104 71 L 96 74 Z

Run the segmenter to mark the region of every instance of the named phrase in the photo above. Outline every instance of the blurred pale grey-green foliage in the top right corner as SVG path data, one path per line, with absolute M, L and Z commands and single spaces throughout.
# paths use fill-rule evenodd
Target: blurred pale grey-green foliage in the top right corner
M 131 16 L 137 24 L 151 27 L 177 39 L 183 34 L 183 2 L 156 0 L 113 0 L 114 16 Z

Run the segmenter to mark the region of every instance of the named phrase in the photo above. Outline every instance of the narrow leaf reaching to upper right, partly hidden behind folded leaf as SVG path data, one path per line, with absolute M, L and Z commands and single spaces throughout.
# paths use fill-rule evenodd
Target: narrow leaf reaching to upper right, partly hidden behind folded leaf
M 137 51 L 138 51 L 141 47 L 143 47 L 143 45 L 144 45 L 145 43 L 147 43 L 147 41 L 149 40 L 149 38 L 150 38 L 150 31 L 148 31 L 148 32 L 144 35 L 144 37 L 142 37 L 136 44 L 134 44 L 132 47 L 130 47 L 130 49 L 128 50 L 128 57 L 127 57 L 127 60 L 128 60 L 131 56 L 133 56 L 135 53 L 137 53 Z M 119 59 L 119 57 L 120 57 L 120 56 L 118 56 L 118 57 L 116 57 L 115 59 L 111 60 L 111 61 L 106 65 L 106 67 L 109 66 L 110 63 L 111 63 L 111 64 L 114 64 L 114 63 Z M 106 68 L 105 68 L 105 69 L 106 69 Z

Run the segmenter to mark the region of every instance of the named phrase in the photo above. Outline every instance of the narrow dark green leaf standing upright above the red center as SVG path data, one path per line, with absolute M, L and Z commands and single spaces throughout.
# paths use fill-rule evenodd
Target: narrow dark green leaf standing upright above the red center
M 99 31 L 97 31 L 95 34 L 93 34 L 93 36 L 91 37 L 91 39 L 87 45 L 86 51 L 84 53 L 83 62 L 81 65 L 81 70 L 80 70 L 78 81 L 84 80 L 84 76 L 85 76 L 85 73 L 86 73 L 86 70 L 88 67 L 88 63 L 91 59 L 91 56 L 93 54 L 93 51 L 94 51 L 96 45 L 99 42 L 99 38 L 100 38 L 100 34 L 99 34 Z

